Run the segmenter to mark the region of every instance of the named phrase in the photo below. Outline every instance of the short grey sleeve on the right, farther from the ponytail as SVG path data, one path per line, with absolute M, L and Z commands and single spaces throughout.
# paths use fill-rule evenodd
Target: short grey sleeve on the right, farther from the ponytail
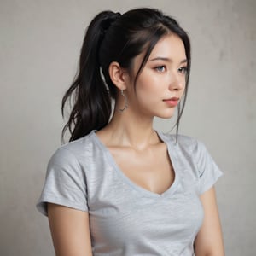
M 200 193 L 203 194 L 212 188 L 223 173 L 219 170 L 212 156 L 208 153 L 207 148 L 201 142 L 197 142 L 196 160 L 200 178 Z

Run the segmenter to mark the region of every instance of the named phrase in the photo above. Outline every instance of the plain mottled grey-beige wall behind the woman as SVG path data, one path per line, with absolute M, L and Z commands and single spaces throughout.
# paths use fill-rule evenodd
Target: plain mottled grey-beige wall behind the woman
M 223 170 L 217 184 L 226 254 L 256 255 L 256 1 L 0 2 L 0 254 L 54 255 L 35 208 L 61 145 L 61 96 L 73 80 L 88 22 L 103 9 L 148 6 L 173 15 L 192 41 L 181 133 L 199 138 Z M 168 131 L 172 122 L 157 120 Z

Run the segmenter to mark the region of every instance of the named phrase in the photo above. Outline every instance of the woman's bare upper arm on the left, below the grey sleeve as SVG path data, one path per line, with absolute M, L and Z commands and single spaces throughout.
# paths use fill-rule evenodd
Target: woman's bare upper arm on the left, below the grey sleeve
M 88 212 L 49 203 L 48 218 L 56 256 L 92 256 Z

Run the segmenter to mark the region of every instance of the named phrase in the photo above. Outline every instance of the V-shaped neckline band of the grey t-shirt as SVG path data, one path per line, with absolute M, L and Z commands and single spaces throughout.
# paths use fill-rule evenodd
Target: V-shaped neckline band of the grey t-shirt
M 117 163 L 114 160 L 113 155 L 111 154 L 108 147 L 105 146 L 104 143 L 102 143 L 101 139 L 96 135 L 96 130 L 91 131 L 92 136 L 95 139 L 97 145 L 102 149 L 102 152 L 105 155 L 107 155 L 108 160 L 109 160 L 111 166 L 113 166 L 114 171 L 119 174 L 119 177 L 121 177 L 122 180 L 125 181 L 125 183 L 127 183 L 133 189 L 136 189 L 137 191 L 139 191 L 140 193 L 142 193 L 143 195 L 145 195 L 147 197 L 161 198 L 161 197 L 166 197 L 167 195 L 170 196 L 177 190 L 178 183 L 179 183 L 179 176 L 178 176 L 178 172 L 177 172 L 177 155 L 176 155 L 176 150 L 174 148 L 175 146 L 172 144 L 172 142 L 170 142 L 170 141 L 167 142 L 167 138 L 163 133 L 161 133 L 160 131 L 155 131 L 155 132 L 160 137 L 160 140 L 166 144 L 167 153 L 169 156 L 169 160 L 171 161 L 172 169 L 174 172 L 174 180 L 173 180 L 171 186 L 168 189 L 166 189 L 163 193 L 160 193 L 160 194 L 150 191 L 148 189 L 144 189 L 142 186 L 138 185 L 137 183 L 133 182 L 129 177 L 127 177 L 125 175 L 125 173 L 122 172 L 122 170 L 117 165 Z

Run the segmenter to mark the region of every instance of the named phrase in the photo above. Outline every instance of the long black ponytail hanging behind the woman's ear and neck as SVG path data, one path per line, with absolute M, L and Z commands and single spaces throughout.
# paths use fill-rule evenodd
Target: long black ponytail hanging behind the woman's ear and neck
M 79 59 L 79 73 L 61 103 L 64 117 L 67 100 L 74 100 L 69 119 L 62 130 L 62 140 L 67 129 L 71 134 L 71 142 L 108 125 L 111 97 L 102 79 L 98 53 L 105 32 L 118 16 L 111 11 L 104 11 L 96 15 L 87 29 Z

